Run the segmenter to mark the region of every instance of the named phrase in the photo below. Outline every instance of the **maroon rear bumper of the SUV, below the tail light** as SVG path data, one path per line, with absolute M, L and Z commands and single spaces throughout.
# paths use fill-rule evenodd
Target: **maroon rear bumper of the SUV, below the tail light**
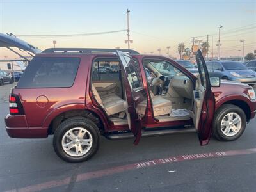
M 6 132 L 11 138 L 47 138 L 47 127 L 28 127 L 24 115 L 6 115 Z

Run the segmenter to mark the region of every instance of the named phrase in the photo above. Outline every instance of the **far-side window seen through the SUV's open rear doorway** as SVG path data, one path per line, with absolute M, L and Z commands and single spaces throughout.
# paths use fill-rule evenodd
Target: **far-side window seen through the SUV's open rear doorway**
M 102 59 L 100 59 L 102 60 Z M 92 80 L 111 80 L 119 81 L 119 62 L 118 61 L 97 61 L 93 63 Z

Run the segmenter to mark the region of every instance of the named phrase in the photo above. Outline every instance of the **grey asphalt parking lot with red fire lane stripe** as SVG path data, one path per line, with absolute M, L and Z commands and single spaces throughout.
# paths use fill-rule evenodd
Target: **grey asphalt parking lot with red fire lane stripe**
M 196 133 L 110 141 L 84 163 L 62 161 L 47 139 L 13 139 L 0 87 L 0 191 L 255 191 L 256 120 L 236 141 L 200 147 Z

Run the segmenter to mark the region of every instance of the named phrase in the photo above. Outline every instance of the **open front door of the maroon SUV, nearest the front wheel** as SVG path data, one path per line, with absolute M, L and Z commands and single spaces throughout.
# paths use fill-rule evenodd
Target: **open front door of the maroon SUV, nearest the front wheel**
M 212 120 L 215 111 L 215 97 L 211 91 L 210 77 L 205 64 L 202 52 L 196 52 L 196 63 L 199 72 L 199 98 L 198 103 L 194 104 L 194 124 L 198 133 L 200 145 L 207 145 L 212 133 Z M 196 100 L 196 99 L 195 99 Z M 195 107 L 195 105 L 197 105 Z M 196 110 L 195 110 L 196 109 Z

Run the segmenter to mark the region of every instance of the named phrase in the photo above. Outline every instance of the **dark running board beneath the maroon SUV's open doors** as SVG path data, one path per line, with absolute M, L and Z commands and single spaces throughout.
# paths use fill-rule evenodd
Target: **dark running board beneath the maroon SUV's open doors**
M 150 137 L 150 136 L 162 136 L 166 134 L 176 134 L 176 133 L 187 133 L 187 132 L 196 132 L 194 127 L 189 128 L 180 128 L 180 129 L 163 129 L 157 131 L 141 131 L 142 137 Z M 109 140 L 123 140 L 134 138 L 134 135 L 131 132 L 125 133 L 110 133 L 105 136 Z

